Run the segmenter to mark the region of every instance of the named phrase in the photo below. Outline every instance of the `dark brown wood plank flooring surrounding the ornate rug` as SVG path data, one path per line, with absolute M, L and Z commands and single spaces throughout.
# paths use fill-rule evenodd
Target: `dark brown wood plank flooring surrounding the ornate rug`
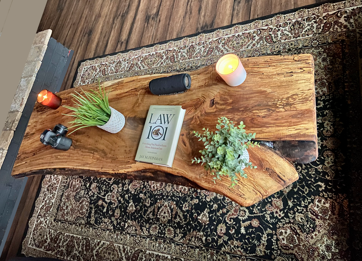
M 48 0 L 38 31 L 74 50 L 61 90 L 79 60 L 124 51 L 324 0 Z M 0 260 L 16 255 L 40 184 L 30 177 Z M 30 209 L 29 209 L 30 207 Z

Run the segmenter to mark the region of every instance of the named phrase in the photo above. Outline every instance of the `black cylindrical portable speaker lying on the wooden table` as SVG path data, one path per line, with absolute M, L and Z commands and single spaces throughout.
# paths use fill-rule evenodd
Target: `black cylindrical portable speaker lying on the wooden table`
M 151 93 L 166 95 L 183 93 L 191 87 L 191 77 L 188 73 L 176 74 L 168 77 L 153 79 L 148 85 Z

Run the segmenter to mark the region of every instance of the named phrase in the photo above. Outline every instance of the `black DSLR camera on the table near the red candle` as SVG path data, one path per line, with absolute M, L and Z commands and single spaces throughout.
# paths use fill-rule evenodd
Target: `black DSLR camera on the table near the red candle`
M 40 135 L 40 141 L 44 145 L 50 145 L 57 150 L 69 150 L 72 146 L 72 139 L 67 138 L 68 128 L 62 124 L 56 124 L 54 129 L 46 129 Z

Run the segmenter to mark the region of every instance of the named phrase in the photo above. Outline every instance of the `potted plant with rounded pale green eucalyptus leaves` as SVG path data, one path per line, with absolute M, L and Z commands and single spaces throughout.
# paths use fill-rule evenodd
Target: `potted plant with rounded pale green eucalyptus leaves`
M 209 132 L 209 128 L 203 128 L 203 134 L 193 131 L 199 141 L 204 142 L 205 149 L 200 150 L 201 158 L 191 159 L 192 163 L 204 164 L 205 170 L 210 170 L 214 183 L 216 179 L 221 180 L 221 176 L 228 176 L 231 186 L 234 187 L 238 181 L 237 175 L 247 178 L 243 170 L 245 167 L 256 168 L 249 162 L 249 146 L 260 146 L 257 142 L 251 141 L 255 134 L 245 133 L 243 121 L 240 125 L 234 126 L 233 121 L 226 117 L 218 119 L 216 130 Z

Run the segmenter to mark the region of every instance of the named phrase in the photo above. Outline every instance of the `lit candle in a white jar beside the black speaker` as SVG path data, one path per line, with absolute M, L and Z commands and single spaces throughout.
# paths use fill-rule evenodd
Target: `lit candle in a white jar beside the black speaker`
M 216 72 L 230 86 L 242 84 L 247 77 L 247 72 L 235 54 L 222 56 L 216 63 Z

